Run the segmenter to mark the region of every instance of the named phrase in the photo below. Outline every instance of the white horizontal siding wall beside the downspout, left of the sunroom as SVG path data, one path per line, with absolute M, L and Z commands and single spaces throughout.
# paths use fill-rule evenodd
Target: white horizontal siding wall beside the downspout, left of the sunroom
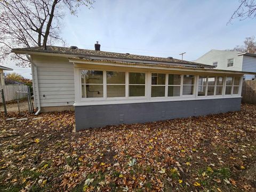
M 69 63 L 68 58 L 62 57 L 33 55 L 32 59 L 37 65 L 41 107 L 73 105 L 75 101 L 73 63 Z M 35 91 L 35 98 L 37 94 Z

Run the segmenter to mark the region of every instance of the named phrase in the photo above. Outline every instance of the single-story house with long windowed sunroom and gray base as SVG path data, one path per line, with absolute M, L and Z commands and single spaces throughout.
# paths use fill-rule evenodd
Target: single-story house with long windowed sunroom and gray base
M 237 111 L 243 71 L 159 57 L 47 46 L 13 49 L 31 61 L 40 111 L 75 109 L 76 131 Z M 255 75 L 255 73 L 249 73 Z

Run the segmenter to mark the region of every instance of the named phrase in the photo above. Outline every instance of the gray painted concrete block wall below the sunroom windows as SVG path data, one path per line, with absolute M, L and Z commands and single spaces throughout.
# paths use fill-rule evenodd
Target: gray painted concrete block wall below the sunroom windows
M 241 98 L 76 106 L 76 131 L 238 111 Z

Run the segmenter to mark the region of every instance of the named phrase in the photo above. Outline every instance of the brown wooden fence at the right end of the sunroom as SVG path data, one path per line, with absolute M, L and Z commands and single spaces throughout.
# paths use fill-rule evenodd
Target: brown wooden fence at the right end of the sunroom
M 256 104 L 256 80 L 243 82 L 242 102 Z

